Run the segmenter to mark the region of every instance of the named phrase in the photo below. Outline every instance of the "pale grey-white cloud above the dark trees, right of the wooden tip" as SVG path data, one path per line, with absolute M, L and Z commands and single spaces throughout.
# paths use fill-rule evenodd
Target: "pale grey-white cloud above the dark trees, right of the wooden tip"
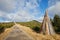
M 53 17 L 55 14 L 60 15 L 60 1 L 56 0 L 55 4 L 51 4 L 48 8 L 50 17 Z

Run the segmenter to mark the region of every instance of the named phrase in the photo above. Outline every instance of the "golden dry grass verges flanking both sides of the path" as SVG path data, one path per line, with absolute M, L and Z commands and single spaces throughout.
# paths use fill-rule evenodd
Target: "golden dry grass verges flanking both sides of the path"
M 17 28 L 18 27 L 18 28 Z M 32 38 L 34 38 L 35 40 L 60 40 L 60 35 L 42 35 L 40 33 L 36 33 L 34 32 L 32 29 L 30 29 L 29 27 L 26 26 L 22 26 L 20 24 L 14 25 L 12 28 L 10 29 L 6 29 L 6 31 L 0 35 L 0 40 L 5 39 L 6 36 L 9 35 L 9 33 L 11 33 L 11 31 L 13 31 L 13 29 L 15 29 L 15 31 L 17 29 L 22 29 L 24 32 L 26 32 L 28 35 L 30 35 Z M 13 32 L 15 32 L 13 31 Z M 13 33 L 12 32 L 12 33 Z M 19 32 L 19 31 L 18 31 Z M 10 34 L 11 35 L 11 34 Z

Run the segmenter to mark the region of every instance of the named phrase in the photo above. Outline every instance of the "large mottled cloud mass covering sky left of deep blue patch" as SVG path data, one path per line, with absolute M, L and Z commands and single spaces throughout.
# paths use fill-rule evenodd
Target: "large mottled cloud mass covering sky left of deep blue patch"
M 40 13 L 38 7 L 37 0 L 0 0 L 0 17 L 4 21 L 34 20 L 35 15 Z

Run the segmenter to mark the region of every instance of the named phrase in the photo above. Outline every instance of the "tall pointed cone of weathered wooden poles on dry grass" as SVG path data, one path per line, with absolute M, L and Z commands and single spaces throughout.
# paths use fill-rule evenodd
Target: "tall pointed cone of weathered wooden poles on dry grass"
M 55 34 L 55 32 L 53 30 L 53 27 L 52 27 L 52 24 L 51 24 L 51 21 L 50 21 L 50 19 L 48 17 L 48 10 L 46 10 L 46 12 L 45 12 L 45 16 L 44 16 L 41 27 L 42 27 L 41 33 L 46 34 L 46 35 Z

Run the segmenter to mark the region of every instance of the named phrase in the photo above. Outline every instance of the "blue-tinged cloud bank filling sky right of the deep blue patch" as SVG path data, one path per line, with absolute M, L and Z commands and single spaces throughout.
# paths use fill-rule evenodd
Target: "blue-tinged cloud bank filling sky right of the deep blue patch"
M 49 15 L 53 17 L 55 14 L 60 16 L 60 0 L 49 0 Z

